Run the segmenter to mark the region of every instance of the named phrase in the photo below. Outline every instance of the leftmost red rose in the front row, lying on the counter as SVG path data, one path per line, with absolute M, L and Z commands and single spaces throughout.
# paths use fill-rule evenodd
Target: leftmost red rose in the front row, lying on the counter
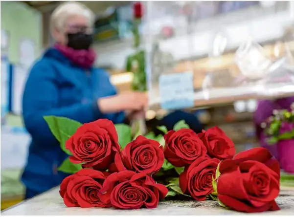
M 67 207 L 110 207 L 99 198 L 105 178 L 100 171 L 82 169 L 62 181 L 59 193 Z

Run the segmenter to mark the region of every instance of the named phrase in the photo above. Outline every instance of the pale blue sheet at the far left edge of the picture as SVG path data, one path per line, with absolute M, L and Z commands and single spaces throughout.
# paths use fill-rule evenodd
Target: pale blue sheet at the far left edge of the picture
M 8 111 L 8 60 L 1 57 L 1 117 Z

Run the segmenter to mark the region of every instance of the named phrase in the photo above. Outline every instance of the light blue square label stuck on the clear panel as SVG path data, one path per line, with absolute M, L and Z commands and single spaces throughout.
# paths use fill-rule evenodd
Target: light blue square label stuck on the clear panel
M 159 95 L 163 109 L 184 109 L 194 106 L 193 72 L 159 77 Z

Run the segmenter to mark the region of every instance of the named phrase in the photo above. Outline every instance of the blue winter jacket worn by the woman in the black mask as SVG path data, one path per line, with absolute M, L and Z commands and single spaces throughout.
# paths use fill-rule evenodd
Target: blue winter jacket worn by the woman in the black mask
M 116 94 L 103 69 L 82 69 L 55 48 L 48 49 L 32 67 L 23 93 L 23 120 L 32 141 L 22 181 L 27 189 L 42 193 L 57 186 L 68 174 L 57 168 L 68 157 L 50 132 L 45 115 L 87 123 L 108 118 L 122 123 L 124 113 L 103 114 L 97 99 Z

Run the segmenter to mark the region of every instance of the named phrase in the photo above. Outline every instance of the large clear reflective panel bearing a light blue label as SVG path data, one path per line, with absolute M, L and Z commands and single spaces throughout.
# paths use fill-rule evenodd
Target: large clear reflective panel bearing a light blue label
M 151 107 L 294 95 L 293 2 L 145 1 Z

